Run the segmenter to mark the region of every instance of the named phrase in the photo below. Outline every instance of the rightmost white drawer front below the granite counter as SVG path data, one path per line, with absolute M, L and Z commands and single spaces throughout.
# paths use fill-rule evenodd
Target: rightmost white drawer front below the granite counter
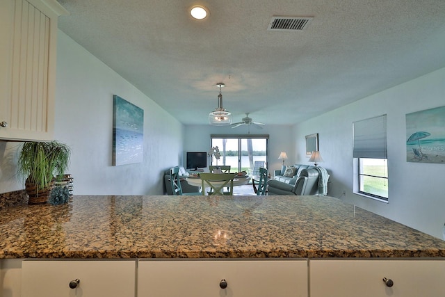
M 309 261 L 309 280 L 311 297 L 445 296 L 445 261 L 314 259 Z

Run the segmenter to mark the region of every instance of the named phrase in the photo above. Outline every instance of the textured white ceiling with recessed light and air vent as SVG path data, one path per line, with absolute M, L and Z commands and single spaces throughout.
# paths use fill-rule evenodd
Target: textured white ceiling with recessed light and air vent
M 219 82 L 234 122 L 290 125 L 445 67 L 444 0 L 59 2 L 64 33 L 186 125 L 207 123 Z M 273 16 L 314 19 L 267 31 Z

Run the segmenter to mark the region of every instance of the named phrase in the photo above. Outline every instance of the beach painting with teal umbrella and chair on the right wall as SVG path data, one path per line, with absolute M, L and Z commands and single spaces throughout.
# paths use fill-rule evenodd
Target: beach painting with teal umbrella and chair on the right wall
M 445 106 L 407 113 L 406 161 L 445 163 Z

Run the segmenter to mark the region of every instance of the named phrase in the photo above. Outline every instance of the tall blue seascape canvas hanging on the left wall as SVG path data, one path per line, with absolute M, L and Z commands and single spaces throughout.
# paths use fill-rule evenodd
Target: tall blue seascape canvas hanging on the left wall
M 141 163 L 144 111 L 118 95 L 113 96 L 113 166 Z

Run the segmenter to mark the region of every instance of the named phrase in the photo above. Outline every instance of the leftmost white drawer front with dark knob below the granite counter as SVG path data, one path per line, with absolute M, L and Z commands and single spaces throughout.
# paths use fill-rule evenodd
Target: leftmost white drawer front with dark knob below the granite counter
M 134 260 L 25 260 L 22 297 L 133 297 L 135 275 Z

